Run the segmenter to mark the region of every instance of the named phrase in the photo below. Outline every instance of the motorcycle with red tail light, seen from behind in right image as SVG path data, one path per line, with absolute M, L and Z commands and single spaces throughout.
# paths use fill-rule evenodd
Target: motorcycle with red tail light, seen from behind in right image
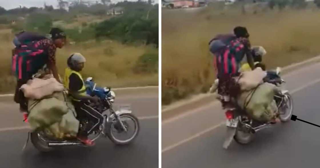
M 281 86 L 285 81 L 279 76 L 280 71 L 281 69 L 277 68 L 276 72 L 268 72 L 264 82 L 274 84 L 277 87 Z M 289 91 L 281 90 L 280 93 L 274 96 L 274 100 L 276 101 L 281 122 L 290 120 L 293 111 L 293 101 Z M 227 118 L 227 136 L 223 143 L 223 148 L 225 149 L 228 148 L 233 139 L 239 144 L 250 143 L 253 134 L 271 125 L 271 123 L 261 123 L 250 119 L 246 112 L 236 105 L 235 108 L 227 108 L 225 115 Z

